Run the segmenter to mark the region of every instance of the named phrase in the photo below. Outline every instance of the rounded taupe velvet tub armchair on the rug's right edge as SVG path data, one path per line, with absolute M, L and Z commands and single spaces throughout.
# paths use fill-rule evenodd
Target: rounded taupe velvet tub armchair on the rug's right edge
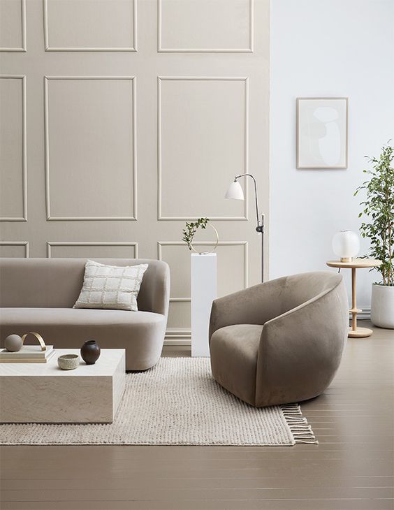
M 323 393 L 340 365 L 349 324 L 342 275 L 307 272 L 214 300 L 214 379 L 255 407 Z

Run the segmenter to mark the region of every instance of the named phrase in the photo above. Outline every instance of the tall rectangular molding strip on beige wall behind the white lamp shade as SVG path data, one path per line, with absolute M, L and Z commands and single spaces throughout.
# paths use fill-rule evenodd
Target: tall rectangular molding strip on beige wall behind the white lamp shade
M 219 82 L 244 82 L 244 105 L 245 105 L 245 155 L 244 155 L 244 168 L 240 173 L 248 173 L 249 168 L 249 79 L 245 76 L 158 76 L 157 77 L 157 211 L 159 221 L 186 221 L 190 219 L 198 219 L 198 216 L 169 216 L 163 214 L 163 163 L 162 163 L 162 138 L 163 138 L 163 127 L 162 127 L 162 82 L 165 81 L 219 81 Z M 231 176 L 233 177 L 233 176 Z M 226 184 L 225 184 L 226 185 Z M 225 191 L 225 190 L 224 190 Z M 244 215 L 243 216 L 214 216 L 210 215 L 210 219 L 214 221 L 247 221 L 249 212 L 249 186 L 248 183 L 245 185 L 245 201 L 244 201 Z

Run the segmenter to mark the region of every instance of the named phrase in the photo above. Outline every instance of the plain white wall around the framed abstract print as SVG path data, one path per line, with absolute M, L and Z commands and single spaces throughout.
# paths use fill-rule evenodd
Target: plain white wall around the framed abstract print
M 393 0 L 272 0 L 270 278 L 328 269 L 333 234 L 358 231 L 363 156 L 394 139 L 393 27 Z M 349 96 L 346 170 L 296 170 L 299 96 Z M 360 307 L 378 278 L 358 271 Z

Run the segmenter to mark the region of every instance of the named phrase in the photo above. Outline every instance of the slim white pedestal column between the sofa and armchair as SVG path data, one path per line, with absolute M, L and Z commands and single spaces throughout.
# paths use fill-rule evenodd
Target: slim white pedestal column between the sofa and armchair
M 215 253 L 191 254 L 191 356 L 210 356 L 208 330 L 212 301 L 217 298 Z

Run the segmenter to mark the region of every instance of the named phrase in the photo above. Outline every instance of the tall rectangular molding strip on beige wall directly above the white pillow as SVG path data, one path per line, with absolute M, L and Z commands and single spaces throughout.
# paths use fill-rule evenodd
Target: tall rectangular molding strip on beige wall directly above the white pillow
M 51 214 L 50 197 L 50 125 L 49 125 L 49 82 L 52 80 L 130 80 L 133 86 L 133 213 L 129 216 L 54 216 Z M 137 133 L 136 133 L 136 76 L 45 76 L 44 77 L 44 118 L 45 118 L 45 205 L 47 221 L 108 221 L 108 220 L 137 220 Z

